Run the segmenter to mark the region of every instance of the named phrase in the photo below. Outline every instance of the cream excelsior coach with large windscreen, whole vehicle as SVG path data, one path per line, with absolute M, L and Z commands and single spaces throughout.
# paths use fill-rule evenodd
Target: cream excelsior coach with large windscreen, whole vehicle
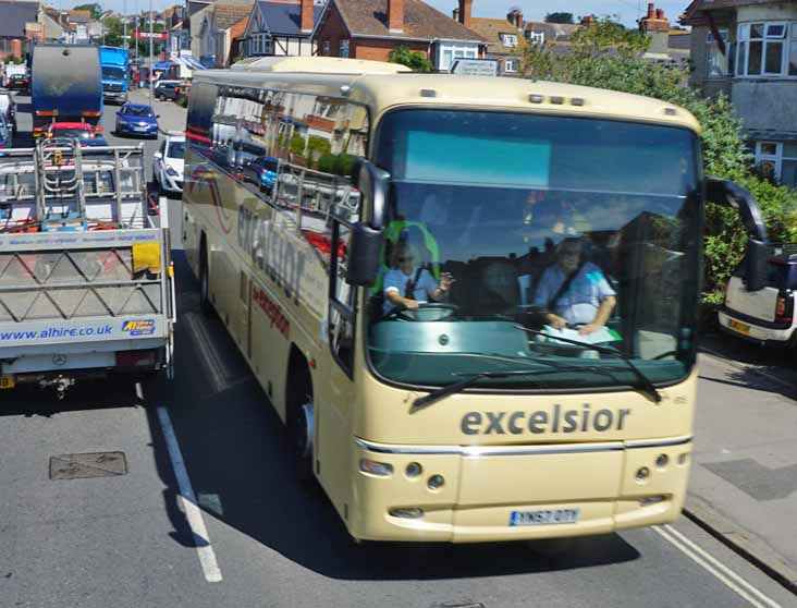
M 673 521 L 696 404 L 698 123 L 559 84 L 261 59 L 194 81 L 183 240 L 356 539 Z

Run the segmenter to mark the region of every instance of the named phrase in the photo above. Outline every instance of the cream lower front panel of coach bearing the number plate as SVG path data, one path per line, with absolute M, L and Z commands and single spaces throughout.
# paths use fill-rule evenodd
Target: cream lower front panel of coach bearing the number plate
M 623 445 L 602 443 L 600 451 L 579 451 L 580 447 L 590 446 L 519 447 L 515 452 L 463 457 L 454 542 L 613 530 Z M 566 516 L 548 518 L 548 511 Z M 547 519 L 561 522 L 545 523 Z

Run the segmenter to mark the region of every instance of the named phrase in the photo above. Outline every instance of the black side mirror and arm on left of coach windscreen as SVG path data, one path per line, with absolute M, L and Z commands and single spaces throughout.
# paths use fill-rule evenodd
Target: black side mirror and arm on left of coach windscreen
M 352 168 L 352 182 L 360 193 L 360 221 L 352 228 L 348 241 L 346 282 L 372 287 L 377 282 L 383 228 L 390 193 L 390 173 L 360 159 Z

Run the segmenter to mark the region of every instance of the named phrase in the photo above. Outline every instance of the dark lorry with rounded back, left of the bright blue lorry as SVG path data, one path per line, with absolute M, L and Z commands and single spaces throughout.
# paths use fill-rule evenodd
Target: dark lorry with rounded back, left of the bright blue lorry
M 30 104 L 34 137 L 52 122 L 99 123 L 102 73 L 99 47 L 34 45 L 30 51 Z

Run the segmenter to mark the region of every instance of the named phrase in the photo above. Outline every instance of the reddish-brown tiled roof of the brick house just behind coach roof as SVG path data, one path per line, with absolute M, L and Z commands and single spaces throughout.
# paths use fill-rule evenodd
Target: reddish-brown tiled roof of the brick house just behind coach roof
M 388 0 L 331 1 L 338 7 L 353 36 L 486 41 L 476 32 L 420 0 L 404 0 L 402 33 L 393 33 L 388 28 Z

